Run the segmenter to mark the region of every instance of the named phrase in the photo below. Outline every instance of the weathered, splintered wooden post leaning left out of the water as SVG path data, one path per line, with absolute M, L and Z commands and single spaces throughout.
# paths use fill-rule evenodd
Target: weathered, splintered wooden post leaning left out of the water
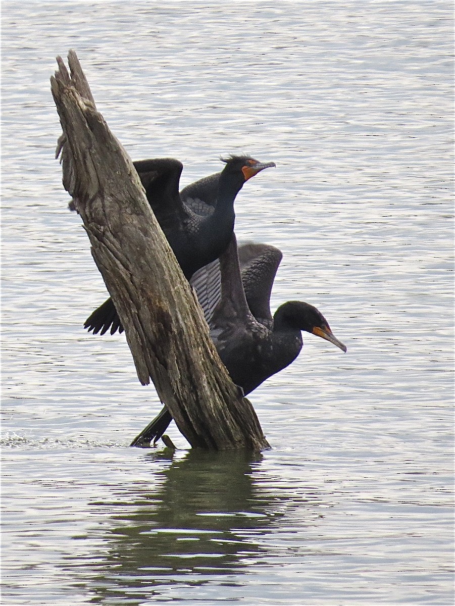
M 201 307 L 156 221 L 139 176 L 96 110 L 74 51 L 51 90 L 63 134 L 63 184 L 115 303 L 139 381 L 158 396 L 193 447 L 261 450 L 268 444 L 208 335 Z

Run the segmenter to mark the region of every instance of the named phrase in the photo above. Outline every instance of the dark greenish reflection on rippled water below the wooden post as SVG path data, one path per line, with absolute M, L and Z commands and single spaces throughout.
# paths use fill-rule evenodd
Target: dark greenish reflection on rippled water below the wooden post
M 158 472 L 158 490 L 133 485 L 134 501 L 113 516 L 93 602 L 127 592 L 136 603 L 132 594 L 140 601 L 161 593 L 160 585 L 199 585 L 214 573 L 233 573 L 261 551 L 258 539 L 283 515 L 279 498 L 253 481 L 261 454 L 193 449 L 173 459 L 166 450 L 150 454 L 152 465 L 157 458 L 171 460 Z

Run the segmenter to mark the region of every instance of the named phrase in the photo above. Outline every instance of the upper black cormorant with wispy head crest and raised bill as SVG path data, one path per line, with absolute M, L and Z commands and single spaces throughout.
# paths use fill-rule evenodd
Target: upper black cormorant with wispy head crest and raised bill
M 179 193 L 183 165 L 173 158 L 134 162 L 147 200 L 188 280 L 227 248 L 234 229 L 234 200 L 245 181 L 274 162 L 250 156 L 223 159 L 224 169 L 187 185 Z M 123 327 L 109 298 L 85 321 L 84 328 L 103 335 Z

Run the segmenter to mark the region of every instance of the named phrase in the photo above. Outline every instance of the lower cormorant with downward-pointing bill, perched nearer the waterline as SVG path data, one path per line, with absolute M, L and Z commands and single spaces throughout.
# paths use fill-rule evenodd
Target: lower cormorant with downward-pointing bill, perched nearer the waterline
M 297 358 L 302 330 L 346 351 L 313 305 L 288 301 L 272 318 L 270 293 L 281 258 L 281 251 L 265 244 L 242 245 L 237 256 L 233 234 L 219 262 L 202 268 L 191 280 L 219 356 L 244 395 Z M 131 445 L 158 441 L 171 420 L 164 407 Z

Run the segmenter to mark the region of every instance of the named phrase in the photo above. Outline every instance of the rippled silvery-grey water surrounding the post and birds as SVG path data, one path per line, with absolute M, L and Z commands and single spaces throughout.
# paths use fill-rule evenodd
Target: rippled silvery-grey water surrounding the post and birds
M 453 603 L 453 3 L 2 2 L 2 604 Z M 308 335 L 272 449 L 128 448 L 160 408 L 53 159 L 75 48 L 133 159 L 243 151 L 240 240 Z

